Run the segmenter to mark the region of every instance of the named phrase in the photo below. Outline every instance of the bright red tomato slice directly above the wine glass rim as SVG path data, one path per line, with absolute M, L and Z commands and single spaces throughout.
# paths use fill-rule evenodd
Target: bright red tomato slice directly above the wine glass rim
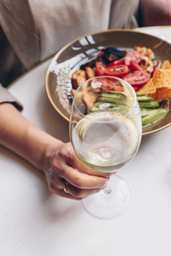
M 117 65 L 113 67 L 107 67 L 104 71 L 105 75 L 112 75 L 117 78 L 122 78 L 129 73 L 129 67 L 126 65 Z

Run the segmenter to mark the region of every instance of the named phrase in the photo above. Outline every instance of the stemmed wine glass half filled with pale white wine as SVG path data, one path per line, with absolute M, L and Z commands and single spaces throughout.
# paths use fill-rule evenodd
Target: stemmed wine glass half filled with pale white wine
M 121 78 L 91 78 L 72 101 L 69 136 L 77 157 L 103 173 L 115 172 L 137 154 L 142 137 L 140 107 L 132 86 Z M 107 188 L 83 199 L 94 216 L 112 218 L 126 210 L 130 189 L 113 175 Z

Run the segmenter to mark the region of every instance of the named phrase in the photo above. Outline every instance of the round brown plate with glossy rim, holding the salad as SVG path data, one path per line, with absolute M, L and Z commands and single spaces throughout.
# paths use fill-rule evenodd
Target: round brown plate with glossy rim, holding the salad
M 53 107 L 67 121 L 71 111 L 72 73 L 82 64 L 96 58 L 102 48 L 113 46 L 120 50 L 132 50 L 134 45 L 151 48 L 156 59 L 171 59 L 171 45 L 159 37 L 126 29 L 112 29 L 75 39 L 56 53 L 47 68 L 45 86 Z M 142 127 L 142 135 L 149 135 L 171 125 L 171 99 L 164 99 L 161 108 L 168 110 L 166 116 Z

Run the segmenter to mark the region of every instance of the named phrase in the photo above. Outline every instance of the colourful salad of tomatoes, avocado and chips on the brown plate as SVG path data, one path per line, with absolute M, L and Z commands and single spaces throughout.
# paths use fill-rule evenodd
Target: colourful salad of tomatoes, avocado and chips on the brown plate
M 91 110 L 121 105 L 119 98 L 124 95 L 123 87 L 113 83 L 110 78 L 105 82 L 96 78 L 102 75 L 122 78 L 134 88 L 141 108 L 142 125 L 151 124 L 167 114 L 167 110 L 160 108 L 159 103 L 171 97 L 171 65 L 166 60 L 161 66 L 161 61 L 156 61 L 151 48 L 134 46 L 132 51 L 104 48 L 96 59 L 82 65 L 72 74 L 73 96 L 80 84 L 94 78 L 91 83 L 94 94 L 90 89 L 84 92 L 85 104 Z

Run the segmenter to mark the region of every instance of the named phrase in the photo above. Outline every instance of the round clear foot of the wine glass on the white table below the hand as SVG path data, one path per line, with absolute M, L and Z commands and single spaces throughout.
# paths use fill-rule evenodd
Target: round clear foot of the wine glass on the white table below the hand
M 109 219 L 123 213 L 129 206 L 128 184 L 116 175 L 110 177 L 106 189 L 83 199 L 83 206 L 96 217 Z

